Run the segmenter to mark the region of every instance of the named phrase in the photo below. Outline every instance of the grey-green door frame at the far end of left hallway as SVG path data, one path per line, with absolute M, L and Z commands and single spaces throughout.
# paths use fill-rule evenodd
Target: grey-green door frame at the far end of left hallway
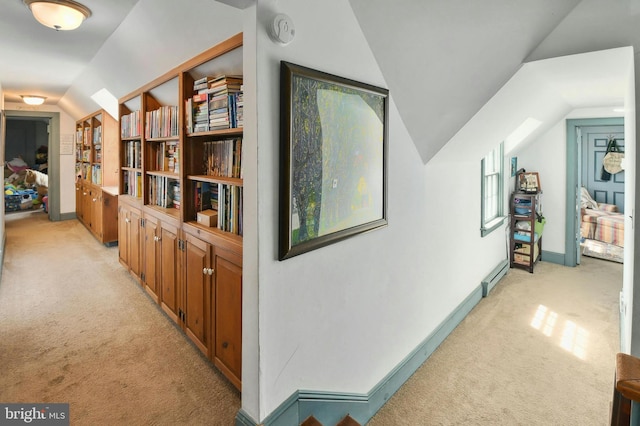
M 49 219 L 52 221 L 61 220 L 60 217 L 60 113 L 47 111 L 5 111 L 6 122 L 11 120 L 48 120 L 48 144 L 47 144 L 47 174 L 49 176 L 49 190 L 47 210 Z M 6 126 L 5 122 L 5 136 Z M 0 149 L 7 153 L 7 139 L 3 139 L 4 144 Z M 10 155 L 10 154 L 9 154 Z M 5 156 L 5 161 L 11 158 Z

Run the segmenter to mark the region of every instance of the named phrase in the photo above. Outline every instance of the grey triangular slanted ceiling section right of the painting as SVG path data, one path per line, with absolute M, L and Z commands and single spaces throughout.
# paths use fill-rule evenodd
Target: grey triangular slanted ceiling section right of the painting
M 579 0 L 350 0 L 427 163 Z

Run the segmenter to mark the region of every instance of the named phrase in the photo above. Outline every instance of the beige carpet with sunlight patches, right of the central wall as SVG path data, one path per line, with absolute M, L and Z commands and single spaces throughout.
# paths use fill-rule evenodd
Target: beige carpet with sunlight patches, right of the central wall
M 622 265 L 511 269 L 370 426 L 607 425 Z

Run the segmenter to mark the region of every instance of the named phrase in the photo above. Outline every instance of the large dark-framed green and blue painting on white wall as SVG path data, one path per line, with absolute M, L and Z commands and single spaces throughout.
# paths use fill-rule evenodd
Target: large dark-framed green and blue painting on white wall
M 389 91 L 280 64 L 280 260 L 387 225 Z

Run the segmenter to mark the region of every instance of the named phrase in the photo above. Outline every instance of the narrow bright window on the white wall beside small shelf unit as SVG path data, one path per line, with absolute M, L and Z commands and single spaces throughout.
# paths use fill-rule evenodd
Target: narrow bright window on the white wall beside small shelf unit
M 480 233 L 484 237 L 504 223 L 503 144 L 482 159 L 482 218 Z

